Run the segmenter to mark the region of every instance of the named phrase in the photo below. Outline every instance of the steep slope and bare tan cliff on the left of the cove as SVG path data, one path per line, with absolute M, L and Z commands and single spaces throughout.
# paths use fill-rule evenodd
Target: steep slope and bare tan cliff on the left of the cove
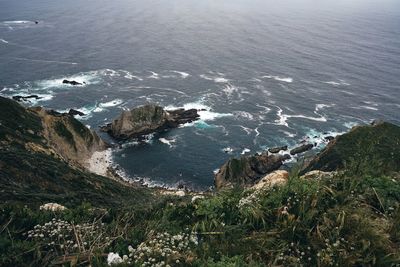
M 72 116 L 26 109 L 0 97 L 0 202 L 116 205 L 145 198 L 82 166 L 105 143 Z

